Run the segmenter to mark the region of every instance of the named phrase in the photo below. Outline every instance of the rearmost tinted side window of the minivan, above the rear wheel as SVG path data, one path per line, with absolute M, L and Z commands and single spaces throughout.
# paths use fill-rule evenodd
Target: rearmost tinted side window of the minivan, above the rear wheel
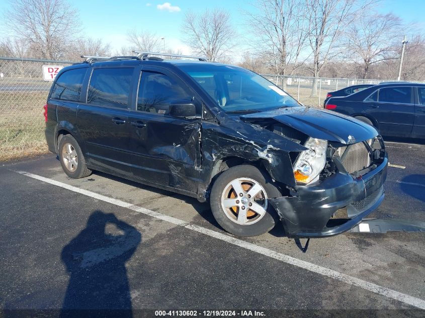
M 55 82 L 51 98 L 79 101 L 86 70 L 87 68 L 76 68 L 62 73 Z

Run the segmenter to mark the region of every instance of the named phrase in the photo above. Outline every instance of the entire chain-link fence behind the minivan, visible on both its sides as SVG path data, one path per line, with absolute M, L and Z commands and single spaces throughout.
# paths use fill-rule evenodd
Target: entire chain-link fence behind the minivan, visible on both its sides
M 43 80 L 42 66 L 66 66 L 71 63 L 0 57 L 0 161 L 47 151 L 43 105 L 52 82 Z M 314 107 L 321 107 L 328 91 L 383 81 L 348 78 L 314 80 L 311 77 L 270 74 L 263 76 L 300 102 Z

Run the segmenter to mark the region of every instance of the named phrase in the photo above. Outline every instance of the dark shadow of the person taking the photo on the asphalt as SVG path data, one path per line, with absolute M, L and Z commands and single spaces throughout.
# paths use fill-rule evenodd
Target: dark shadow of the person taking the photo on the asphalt
M 61 316 L 97 312 L 131 317 L 125 263 L 140 241 L 141 234 L 131 225 L 114 214 L 94 211 L 87 227 L 62 249 L 61 259 L 70 277 Z

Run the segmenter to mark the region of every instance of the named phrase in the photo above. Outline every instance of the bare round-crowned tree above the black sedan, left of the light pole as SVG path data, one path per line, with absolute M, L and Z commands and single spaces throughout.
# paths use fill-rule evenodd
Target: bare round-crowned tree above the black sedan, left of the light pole
M 400 18 L 392 14 L 362 14 L 350 24 L 345 53 L 361 68 L 361 78 L 368 77 L 372 64 L 395 58 L 394 39 L 400 26 Z

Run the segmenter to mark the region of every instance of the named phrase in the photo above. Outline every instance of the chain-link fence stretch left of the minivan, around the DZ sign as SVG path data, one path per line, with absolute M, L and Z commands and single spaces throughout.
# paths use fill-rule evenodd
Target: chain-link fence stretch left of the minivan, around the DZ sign
M 43 105 L 52 82 L 43 65 L 70 62 L 0 58 L 0 161 L 47 151 Z

